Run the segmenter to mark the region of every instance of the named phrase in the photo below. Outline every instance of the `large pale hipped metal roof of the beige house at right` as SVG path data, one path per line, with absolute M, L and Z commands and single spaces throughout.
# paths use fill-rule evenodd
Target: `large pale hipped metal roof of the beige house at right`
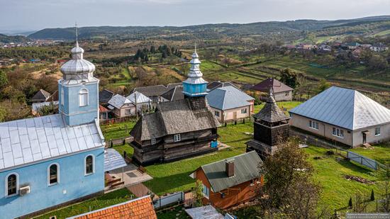
M 358 130 L 390 123 L 390 110 L 359 91 L 332 86 L 290 113 L 332 125 Z

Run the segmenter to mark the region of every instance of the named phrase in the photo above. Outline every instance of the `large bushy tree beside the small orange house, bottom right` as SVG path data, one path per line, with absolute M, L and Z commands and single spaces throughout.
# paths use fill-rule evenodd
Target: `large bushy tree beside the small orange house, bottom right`
M 311 218 L 321 194 L 321 187 L 312 180 L 313 167 L 299 149 L 299 140 L 282 142 L 277 152 L 265 159 L 260 172 L 267 179 L 259 195 L 263 216 L 289 215 L 288 218 Z

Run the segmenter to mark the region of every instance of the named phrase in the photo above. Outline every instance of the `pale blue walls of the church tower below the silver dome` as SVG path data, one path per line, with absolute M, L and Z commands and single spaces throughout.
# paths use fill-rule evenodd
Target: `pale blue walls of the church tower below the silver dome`
M 62 105 L 61 89 L 64 89 L 64 104 Z M 79 91 L 81 89 L 88 90 L 87 106 L 79 106 Z M 80 125 L 94 122 L 98 118 L 99 109 L 99 82 L 78 84 L 77 86 L 62 86 L 58 83 L 60 112 L 65 115 L 65 121 L 68 125 Z

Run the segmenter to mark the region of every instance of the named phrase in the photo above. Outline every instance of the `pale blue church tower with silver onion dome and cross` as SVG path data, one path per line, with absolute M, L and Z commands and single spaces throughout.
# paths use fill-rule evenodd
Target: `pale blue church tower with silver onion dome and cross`
M 99 79 L 94 77 L 94 64 L 84 60 L 77 38 L 71 52 L 72 60 L 62 65 L 58 80 L 59 111 L 67 125 L 91 123 L 99 119 Z

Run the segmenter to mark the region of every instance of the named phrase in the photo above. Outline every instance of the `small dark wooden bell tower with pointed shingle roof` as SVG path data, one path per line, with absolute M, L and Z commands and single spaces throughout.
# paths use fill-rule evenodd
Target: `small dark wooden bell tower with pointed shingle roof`
M 277 106 L 272 91 L 264 107 L 254 116 L 253 139 L 246 142 L 247 152 L 255 150 L 261 157 L 273 155 L 277 145 L 289 138 L 289 117 Z

